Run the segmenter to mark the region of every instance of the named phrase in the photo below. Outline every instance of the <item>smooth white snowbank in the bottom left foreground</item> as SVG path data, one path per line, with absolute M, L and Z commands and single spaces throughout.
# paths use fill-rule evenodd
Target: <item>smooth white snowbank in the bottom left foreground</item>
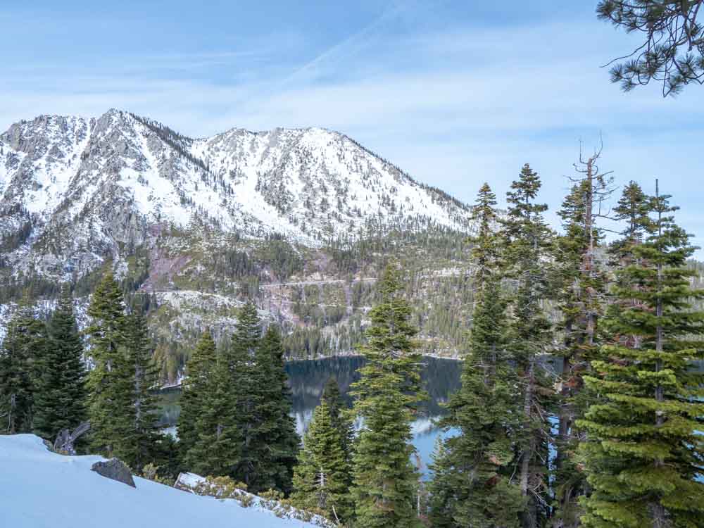
M 134 477 L 137 489 L 101 477 L 99 456 L 51 453 L 32 434 L 0 436 L 0 524 L 13 528 L 312 527 Z

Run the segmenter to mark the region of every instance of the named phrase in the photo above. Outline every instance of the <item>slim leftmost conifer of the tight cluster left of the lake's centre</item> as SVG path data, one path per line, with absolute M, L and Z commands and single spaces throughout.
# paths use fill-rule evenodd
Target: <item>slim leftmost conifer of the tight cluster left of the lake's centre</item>
M 215 341 L 210 331 L 206 329 L 186 363 L 186 375 L 180 399 L 181 413 L 177 424 L 179 450 L 182 459 L 188 461 L 188 465 L 193 463 L 188 453 L 196 444 L 200 434 L 197 427 L 198 420 L 205 411 L 206 391 L 215 375 L 216 361 Z

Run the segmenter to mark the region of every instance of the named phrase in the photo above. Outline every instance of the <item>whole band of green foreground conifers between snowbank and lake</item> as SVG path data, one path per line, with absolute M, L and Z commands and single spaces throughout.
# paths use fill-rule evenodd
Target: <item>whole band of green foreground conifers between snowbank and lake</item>
M 230 337 L 201 334 L 177 440 L 161 434 L 144 306 L 128 307 L 110 272 L 82 334 L 68 285 L 56 286 L 49 320 L 30 304 L 18 310 L 0 352 L 2 432 L 52 441 L 89 422 L 78 452 L 118 457 L 168 484 L 184 471 L 207 475 L 340 526 L 700 526 L 696 248 L 657 182 L 653 196 L 637 182 L 622 186 L 604 213 L 617 188 L 598 156 L 579 165 L 560 232 L 544 219 L 529 165 L 506 210 L 488 184 L 479 189 L 461 387 L 438 424 L 456 434 L 439 441 L 427 482 L 410 444 L 426 395 L 413 281 L 398 258 L 373 288 L 351 406 L 330 379 L 303 439 L 290 417 L 281 329 L 251 302 Z M 607 221 L 620 226 L 610 240 Z M 540 361 L 547 355 L 560 358 L 559 374 Z

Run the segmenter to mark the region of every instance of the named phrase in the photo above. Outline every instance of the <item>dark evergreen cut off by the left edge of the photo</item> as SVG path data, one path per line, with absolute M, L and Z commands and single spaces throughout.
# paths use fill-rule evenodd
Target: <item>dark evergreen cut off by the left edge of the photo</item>
M 46 325 L 23 302 L 0 348 L 0 433 L 32 432 L 35 381 L 46 353 Z

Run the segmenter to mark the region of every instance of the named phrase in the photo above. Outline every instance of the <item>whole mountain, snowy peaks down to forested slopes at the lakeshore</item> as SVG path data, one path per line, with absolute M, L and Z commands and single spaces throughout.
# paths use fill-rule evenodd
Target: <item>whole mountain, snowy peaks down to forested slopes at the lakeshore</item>
M 132 113 L 42 115 L 0 134 L 0 340 L 20 298 L 71 282 L 79 324 L 111 269 L 148 313 L 163 379 L 249 298 L 296 357 L 349 353 L 389 256 L 413 270 L 429 353 L 455 354 L 470 210 L 329 130 L 191 139 Z M 363 240 L 363 243 L 359 243 Z

